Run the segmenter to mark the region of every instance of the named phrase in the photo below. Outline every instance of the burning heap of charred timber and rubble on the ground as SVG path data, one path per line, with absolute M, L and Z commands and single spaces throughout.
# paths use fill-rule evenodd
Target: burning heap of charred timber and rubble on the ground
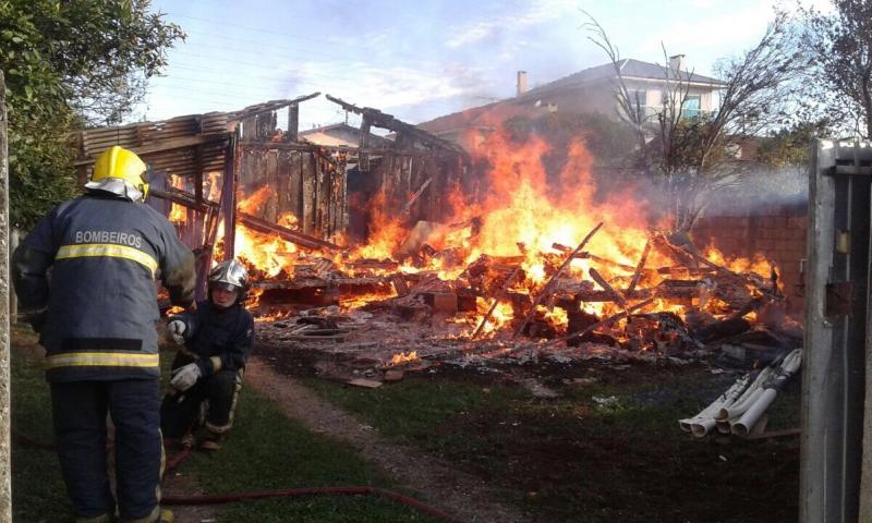
M 586 248 L 602 228 L 576 248 L 536 253 L 541 268 L 523 246 L 516 256 L 481 254 L 453 272 L 428 267 L 463 253 L 426 242 L 401 260 L 308 256 L 292 276 L 256 283 L 256 307 L 282 340 L 366 346 L 367 358 L 383 363 L 403 352 L 468 362 L 687 361 L 717 352 L 742 366 L 801 342 L 801 327 L 783 312 L 776 268 L 767 277 L 734 270 L 686 236 L 654 230 L 637 264 L 621 264 Z

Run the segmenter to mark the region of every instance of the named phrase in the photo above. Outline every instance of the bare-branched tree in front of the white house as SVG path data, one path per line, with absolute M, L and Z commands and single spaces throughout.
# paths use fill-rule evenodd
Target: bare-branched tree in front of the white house
M 718 107 L 711 113 L 686 118 L 693 71 L 664 66 L 665 96 L 650 121 L 623 82 L 618 49 L 585 14 L 589 39 L 614 65 L 618 112 L 635 131 L 640 165 L 667 194 L 674 229 L 690 230 L 711 195 L 746 173 L 746 166 L 735 161 L 742 141 L 782 124 L 788 115 L 795 99 L 792 81 L 803 69 L 788 19 L 776 13 L 756 46 L 718 63 L 715 74 L 723 86 Z

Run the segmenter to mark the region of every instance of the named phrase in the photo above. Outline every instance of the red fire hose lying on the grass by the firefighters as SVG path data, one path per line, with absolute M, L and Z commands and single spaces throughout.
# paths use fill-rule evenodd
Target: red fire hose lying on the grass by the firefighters
M 15 440 L 24 446 L 33 447 L 36 449 L 56 451 L 52 445 L 37 441 L 33 438 L 24 436 L 19 433 L 13 433 Z M 171 472 L 182 464 L 184 460 L 191 457 L 193 450 L 184 448 L 179 453 L 169 458 L 165 466 L 165 473 Z M 404 496 L 393 490 L 388 490 L 380 487 L 370 486 L 339 486 L 339 487 L 300 487 L 300 488 L 278 488 L 269 490 L 253 490 L 247 492 L 230 492 L 230 494 L 203 494 L 193 496 L 164 496 L 160 500 L 161 504 L 175 506 L 175 504 L 223 504 L 233 503 L 238 501 L 250 501 L 257 499 L 269 498 L 302 498 L 311 496 L 378 496 L 380 498 L 389 499 L 398 503 L 404 504 L 412 509 L 417 510 L 424 514 L 436 518 L 437 520 L 447 523 L 458 523 L 458 520 L 446 514 L 445 512 L 435 509 L 426 503 Z

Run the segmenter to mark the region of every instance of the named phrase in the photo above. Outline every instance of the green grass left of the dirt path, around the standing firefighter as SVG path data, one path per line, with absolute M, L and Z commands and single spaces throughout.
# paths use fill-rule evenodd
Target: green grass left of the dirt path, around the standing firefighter
M 15 332 L 13 344 L 34 343 Z M 171 360 L 165 354 L 162 360 Z M 12 426 L 15 433 L 51 441 L 51 408 L 40 357 L 13 350 Z M 66 499 L 58 459 L 52 452 L 13 443 L 12 488 L 15 522 L 65 522 Z M 209 494 L 269 488 L 372 485 L 397 490 L 390 481 L 354 452 L 289 421 L 279 406 L 251 388 L 241 394 L 235 427 L 225 448 L 195 453 L 178 470 L 194 475 Z M 173 492 L 167 492 L 173 494 Z M 268 523 L 434 522 L 413 509 L 375 497 L 325 497 L 261 500 L 223 506 L 219 521 Z

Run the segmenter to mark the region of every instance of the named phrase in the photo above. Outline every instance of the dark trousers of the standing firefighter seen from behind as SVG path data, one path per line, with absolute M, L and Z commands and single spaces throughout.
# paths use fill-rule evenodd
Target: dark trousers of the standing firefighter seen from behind
M 116 513 L 107 471 L 107 413 L 114 425 L 121 520 L 158 520 L 164 464 L 159 402 L 157 379 L 51 384 L 55 442 L 80 521 Z

